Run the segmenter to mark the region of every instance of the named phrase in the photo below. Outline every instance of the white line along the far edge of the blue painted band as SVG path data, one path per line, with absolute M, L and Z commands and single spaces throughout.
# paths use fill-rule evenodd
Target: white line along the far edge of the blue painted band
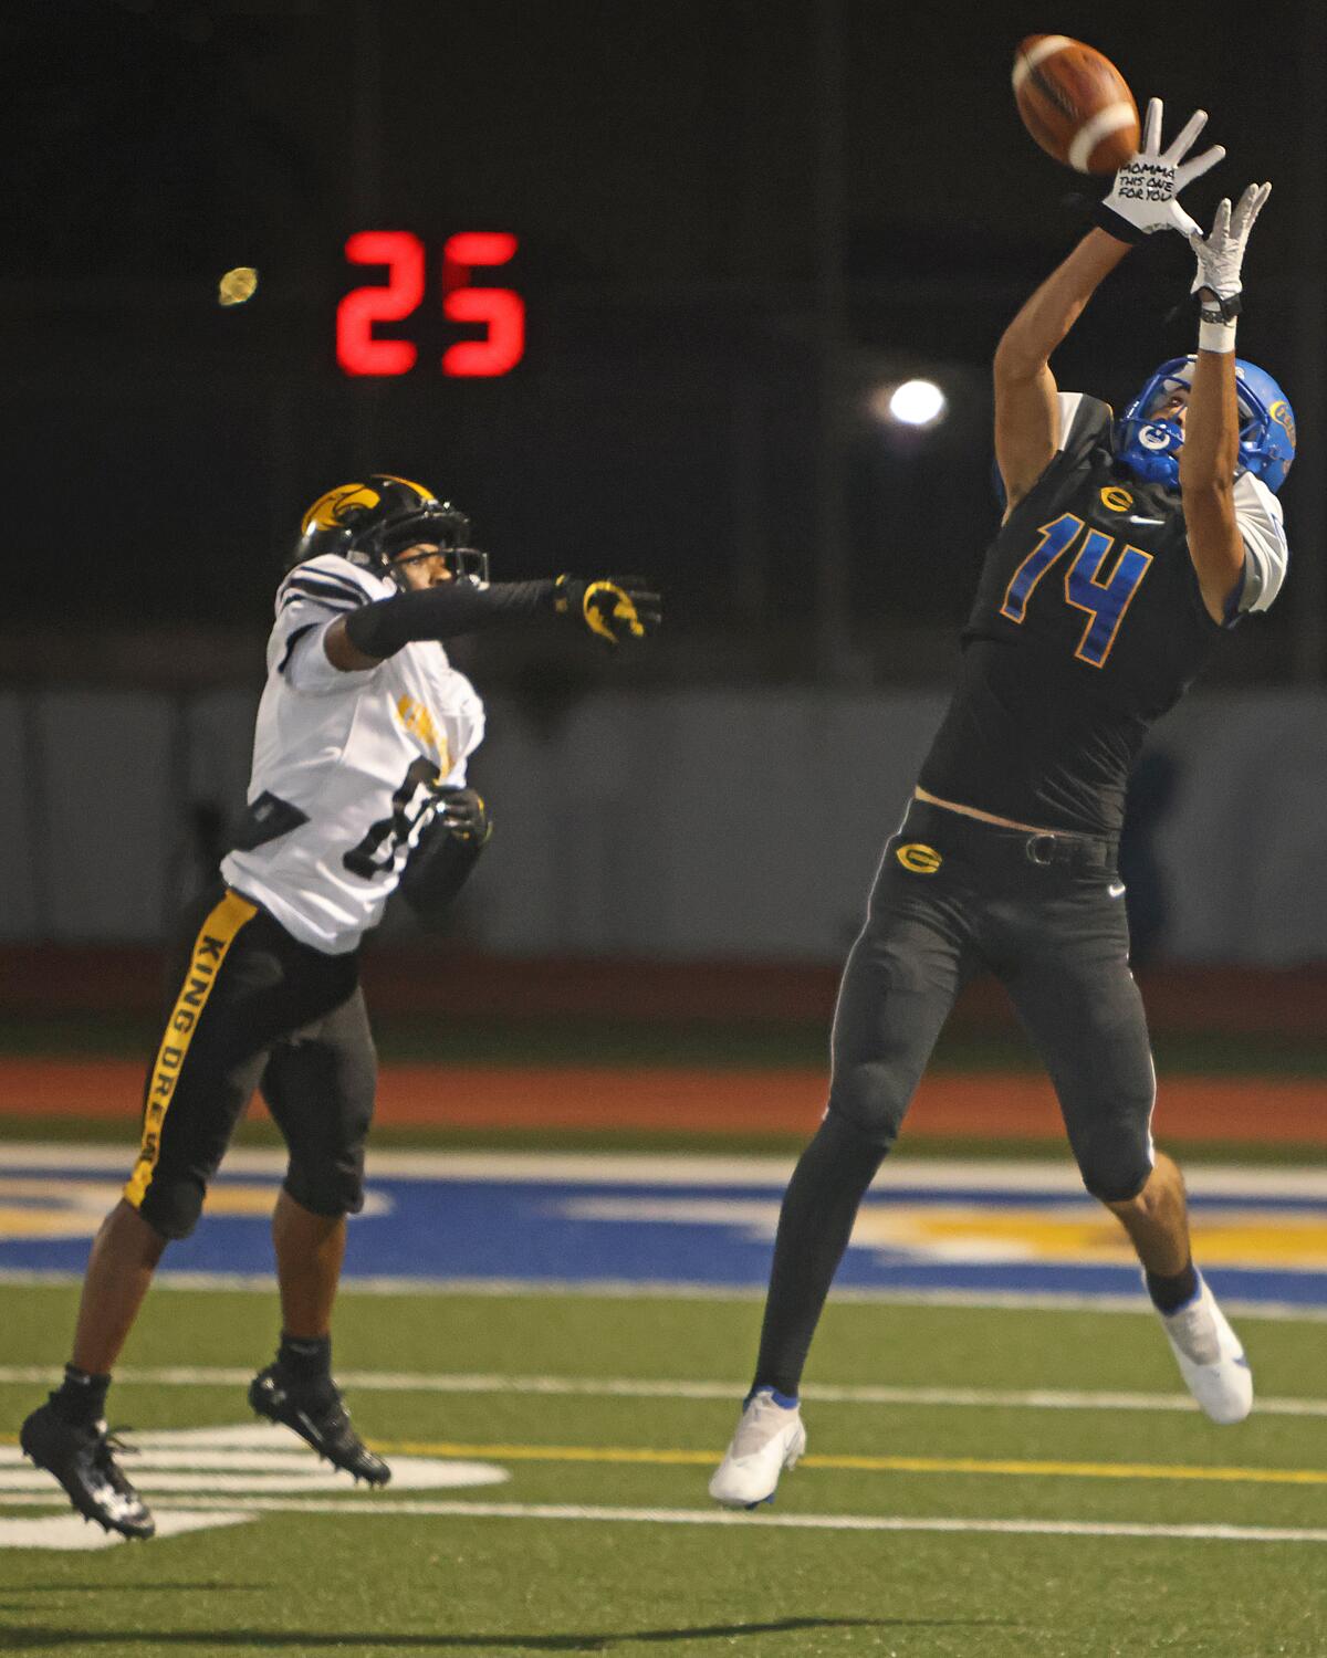
M 123 1176 L 133 1161 L 133 1144 L 61 1146 L 50 1141 L 0 1142 L 0 1169 L 108 1171 Z M 489 1152 L 489 1151 L 375 1151 L 370 1177 L 393 1180 L 508 1180 L 518 1184 L 589 1182 L 592 1185 L 750 1185 L 783 1187 L 793 1172 L 791 1157 L 732 1157 L 678 1152 Z M 231 1174 L 285 1171 L 277 1147 L 241 1146 L 226 1157 Z M 1184 1171 L 1196 1194 L 1239 1197 L 1307 1197 L 1327 1202 L 1327 1157 L 1317 1169 L 1269 1169 L 1251 1164 L 1193 1164 Z M 876 1190 L 896 1187 L 937 1190 L 970 1187 L 1020 1192 L 1065 1192 L 1083 1197 L 1078 1172 L 1062 1161 L 979 1161 L 894 1157 L 876 1180 Z

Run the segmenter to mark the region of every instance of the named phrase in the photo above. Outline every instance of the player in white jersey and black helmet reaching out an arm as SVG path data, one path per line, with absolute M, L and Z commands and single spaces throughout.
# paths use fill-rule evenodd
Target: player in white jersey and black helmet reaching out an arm
M 483 703 L 441 642 L 547 615 L 615 645 L 660 618 L 659 595 L 632 579 L 489 584 L 468 519 L 388 474 L 322 496 L 292 565 L 249 809 L 182 919 L 138 1161 L 93 1244 L 65 1379 L 20 1436 L 81 1514 L 124 1537 L 154 1524 L 106 1431 L 111 1368 L 259 1086 L 290 1156 L 272 1217 L 282 1338 L 249 1403 L 355 1479 L 390 1479 L 332 1379 L 330 1323 L 373 1111 L 358 945 L 398 885 L 420 914 L 445 910 L 489 832 L 466 788 Z

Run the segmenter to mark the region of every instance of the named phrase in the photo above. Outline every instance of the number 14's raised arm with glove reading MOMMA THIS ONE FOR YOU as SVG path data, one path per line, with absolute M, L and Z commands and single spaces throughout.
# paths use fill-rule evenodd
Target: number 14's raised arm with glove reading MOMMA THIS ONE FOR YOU
M 1154 230 L 1188 234 L 1198 225 L 1179 206 L 1179 191 L 1214 167 L 1218 144 L 1186 161 L 1208 116 L 1194 111 L 1168 149 L 1161 149 L 1163 104 L 1153 98 L 1143 148 L 1115 174 L 1110 196 L 1090 230 L 1053 270 L 1005 330 L 995 351 L 995 459 L 1010 511 L 1037 482 L 1060 444 L 1060 418 L 1050 356 L 1075 325 L 1098 285 L 1135 242 Z

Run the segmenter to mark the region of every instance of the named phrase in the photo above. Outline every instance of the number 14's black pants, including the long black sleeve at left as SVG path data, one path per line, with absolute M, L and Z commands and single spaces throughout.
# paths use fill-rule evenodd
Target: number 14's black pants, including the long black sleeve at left
M 1086 1189 L 1108 1202 L 1143 1189 L 1156 1079 L 1115 854 L 1110 839 L 912 802 L 839 985 L 829 1106 L 783 1200 L 756 1384 L 796 1393 L 858 1205 L 975 973 L 1009 990 Z

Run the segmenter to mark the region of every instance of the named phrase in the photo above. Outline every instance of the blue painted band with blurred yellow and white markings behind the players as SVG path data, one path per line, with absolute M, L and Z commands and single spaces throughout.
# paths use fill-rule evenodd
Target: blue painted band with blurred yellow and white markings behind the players
M 171 1245 L 164 1273 L 270 1272 L 279 1162 L 254 1152 L 237 1161 L 194 1237 Z M 781 1164 L 722 1159 L 380 1162 L 352 1225 L 352 1280 L 761 1287 L 786 1179 Z M 0 1151 L 0 1272 L 81 1272 L 123 1172 L 123 1156 L 86 1147 L 73 1166 L 65 1147 Z M 1204 1171 L 1194 1184 L 1194 1253 L 1219 1293 L 1327 1307 L 1327 1172 Z M 922 1295 L 1120 1297 L 1138 1293 L 1138 1268 L 1072 1171 L 901 1159 L 863 1205 L 836 1282 Z

